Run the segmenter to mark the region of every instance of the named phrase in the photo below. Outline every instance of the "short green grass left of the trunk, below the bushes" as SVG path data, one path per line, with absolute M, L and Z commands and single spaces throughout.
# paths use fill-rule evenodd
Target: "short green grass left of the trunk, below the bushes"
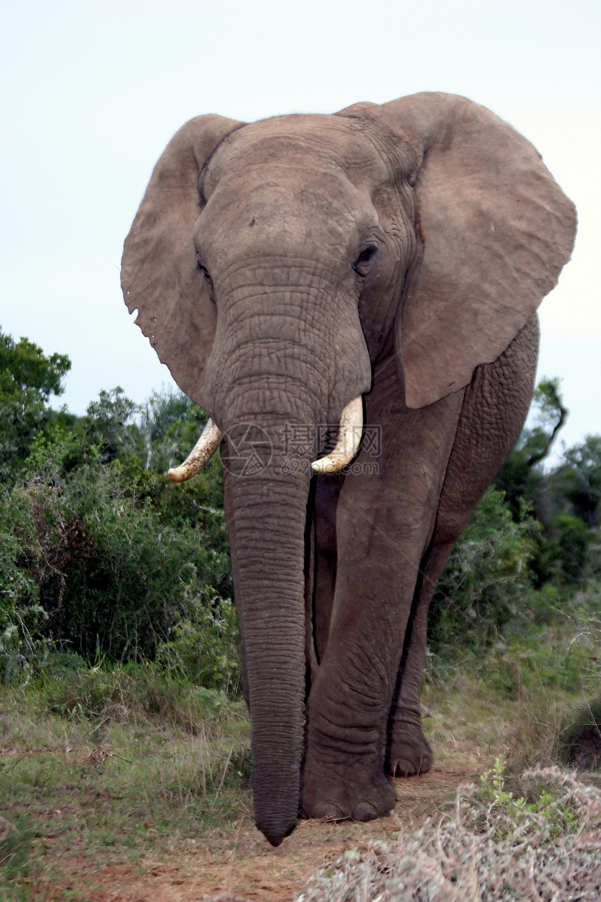
M 33 897 L 73 859 L 182 851 L 250 808 L 246 712 L 223 693 L 54 662 L 2 689 L 0 710 L 0 900 Z

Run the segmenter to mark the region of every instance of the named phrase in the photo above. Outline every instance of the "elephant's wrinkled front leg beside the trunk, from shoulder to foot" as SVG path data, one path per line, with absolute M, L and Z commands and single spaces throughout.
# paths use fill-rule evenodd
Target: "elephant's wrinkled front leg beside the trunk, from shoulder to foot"
M 378 467 L 364 446 L 336 508 L 330 629 L 307 704 L 301 802 L 312 817 L 369 820 L 395 803 L 388 713 L 463 397 L 407 410 L 396 369 L 381 373 L 366 397 L 366 422 L 381 424 Z

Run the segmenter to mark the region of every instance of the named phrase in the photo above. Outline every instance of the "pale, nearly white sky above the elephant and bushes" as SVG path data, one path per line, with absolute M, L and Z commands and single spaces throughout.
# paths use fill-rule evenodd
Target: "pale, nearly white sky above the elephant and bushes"
M 598 0 L 20 0 L 0 14 L 0 327 L 68 354 L 65 403 L 173 385 L 119 287 L 123 239 L 169 138 L 194 115 L 332 113 L 423 90 L 513 124 L 578 207 L 540 309 L 539 377 L 563 441 L 601 432 Z

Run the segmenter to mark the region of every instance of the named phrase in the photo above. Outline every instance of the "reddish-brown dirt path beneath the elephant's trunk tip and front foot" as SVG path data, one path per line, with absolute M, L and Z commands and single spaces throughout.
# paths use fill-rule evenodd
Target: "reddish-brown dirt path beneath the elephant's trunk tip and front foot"
M 90 872 L 89 861 L 76 860 L 68 879 L 44 887 L 46 898 L 49 902 L 65 897 L 90 902 L 289 902 L 314 870 L 336 861 L 346 849 L 372 839 L 394 838 L 400 826 L 417 826 L 428 816 L 442 814 L 460 783 L 475 778 L 487 764 L 479 759 L 474 768 L 474 763 L 466 756 L 463 767 L 442 762 L 422 777 L 396 780 L 395 810 L 372 824 L 301 821 L 278 849 L 272 849 L 251 818 L 244 817 L 233 831 L 214 833 L 204 847 L 182 851 L 170 861 L 149 859 Z

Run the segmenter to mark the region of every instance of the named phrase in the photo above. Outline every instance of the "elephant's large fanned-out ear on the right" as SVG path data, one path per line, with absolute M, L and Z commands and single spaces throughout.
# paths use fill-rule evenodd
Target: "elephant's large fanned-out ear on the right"
M 503 353 L 569 261 L 576 211 L 533 145 L 465 97 L 415 94 L 378 114 L 419 162 L 423 259 L 397 336 L 406 402 L 418 408 Z

